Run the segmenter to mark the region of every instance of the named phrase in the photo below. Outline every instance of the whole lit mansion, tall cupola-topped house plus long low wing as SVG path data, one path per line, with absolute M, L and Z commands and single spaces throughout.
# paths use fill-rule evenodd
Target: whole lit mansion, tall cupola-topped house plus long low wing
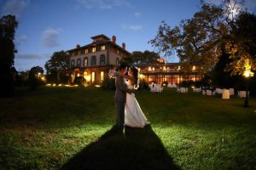
M 82 77 L 86 85 L 101 84 L 108 72 L 118 67 L 119 61 L 131 53 L 116 43 L 116 37 L 112 40 L 105 35 L 91 37 L 92 42 L 85 46 L 77 45 L 76 48 L 67 50 L 71 55 L 69 75 L 72 82 L 75 77 Z M 179 63 L 165 63 L 160 59 L 159 64 L 137 64 L 141 78 L 148 82 L 175 83 L 183 81 L 200 81 L 201 75 L 192 65 L 191 71 L 183 71 Z

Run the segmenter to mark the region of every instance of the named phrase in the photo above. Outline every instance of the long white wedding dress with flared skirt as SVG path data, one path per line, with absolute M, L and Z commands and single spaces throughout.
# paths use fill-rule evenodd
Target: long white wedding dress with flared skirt
M 125 81 L 127 88 L 132 89 L 130 81 Z M 144 116 L 140 105 L 135 98 L 135 94 L 126 93 L 126 103 L 125 103 L 125 126 L 128 127 L 145 127 L 149 122 Z

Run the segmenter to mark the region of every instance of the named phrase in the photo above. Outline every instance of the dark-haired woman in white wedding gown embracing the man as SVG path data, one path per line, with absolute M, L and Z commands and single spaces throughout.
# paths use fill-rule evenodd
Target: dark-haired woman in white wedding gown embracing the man
M 136 67 L 130 67 L 128 76 L 123 76 L 127 88 L 138 88 L 138 70 Z M 144 116 L 140 105 L 135 98 L 135 94 L 126 93 L 126 104 L 125 104 L 125 126 L 128 127 L 145 127 L 149 122 Z

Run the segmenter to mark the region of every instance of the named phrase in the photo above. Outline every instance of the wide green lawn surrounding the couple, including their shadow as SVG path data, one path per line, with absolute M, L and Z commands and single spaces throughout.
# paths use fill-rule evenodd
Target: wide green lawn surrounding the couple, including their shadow
M 256 99 L 137 91 L 151 125 L 114 131 L 114 91 L 0 99 L 0 169 L 256 169 Z

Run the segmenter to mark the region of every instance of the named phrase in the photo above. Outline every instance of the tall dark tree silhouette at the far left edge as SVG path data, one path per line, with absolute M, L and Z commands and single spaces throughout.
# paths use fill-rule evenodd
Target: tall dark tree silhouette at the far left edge
M 0 97 L 14 94 L 15 28 L 18 22 L 14 15 L 0 19 Z

